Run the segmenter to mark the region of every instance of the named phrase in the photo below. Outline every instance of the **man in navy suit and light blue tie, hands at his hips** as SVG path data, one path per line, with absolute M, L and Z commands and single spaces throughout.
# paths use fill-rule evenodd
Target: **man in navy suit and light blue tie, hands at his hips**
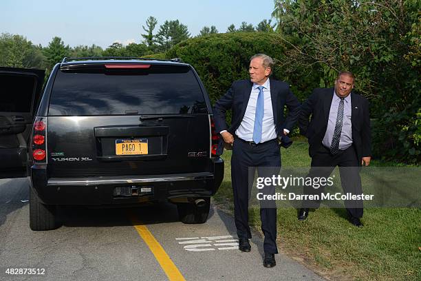
M 287 83 L 269 79 L 273 61 L 266 54 L 256 54 L 250 59 L 250 80 L 235 81 L 213 110 L 215 129 L 222 136 L 219 153 L 224 142 L 233 145 L 231 158 L 231 179 L 234 194 L 234 216 L 239 249 L 250 251 L 251 238 L 248 225 L 248 200 L 255 170 L 259 176 L 279 174 L 281 154 L 278 138 L 285 137 L 296 122 L 299 101 L 290 91 Z M 285 105 L 288 116 L 284 116 Z M 232 110 L 231 126 L 226 125 L 226 111 Z M 266 167 L 266 168 L 263 168 Z M 249 174 L 250 169 L 250 174 Z M 251 179 L 250 179 L 251 177 Z M 274 187 L 268 186 L 267 194 L 274 194 Z M 260 208 L 261 229 L 265 236 L 263 249 L 265 267 L 276 265 L 274 254 L 278 253 L 277 209 L 274 204 Z

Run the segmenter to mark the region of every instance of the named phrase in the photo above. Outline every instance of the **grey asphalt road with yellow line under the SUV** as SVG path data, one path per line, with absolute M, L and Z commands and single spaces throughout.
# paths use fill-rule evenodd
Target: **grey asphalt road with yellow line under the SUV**
M 62 227 L 31 231 L 28 200 L 26 178 L 0 180 L 0 280 L 322 280 L 282 253 L 264 268 L 257 234 L 239 251 L 233 218 L 214 206 L 203 225 L 182 224 L 171 204 L 66 207 Z

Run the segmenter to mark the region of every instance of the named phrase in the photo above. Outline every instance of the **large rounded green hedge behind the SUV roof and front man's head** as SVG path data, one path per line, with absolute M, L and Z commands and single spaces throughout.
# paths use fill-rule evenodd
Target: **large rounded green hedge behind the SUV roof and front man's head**
M 275 33 L 234 32 L 188 39 L 166 53 L 190 63 L 202 79 L 211 101 L 225 94 L 233 81 L 248 79 L 250 57 L 266 53 L 281 58 L 283 41 Z M 277 73 L 274 73 L 277 76 Z

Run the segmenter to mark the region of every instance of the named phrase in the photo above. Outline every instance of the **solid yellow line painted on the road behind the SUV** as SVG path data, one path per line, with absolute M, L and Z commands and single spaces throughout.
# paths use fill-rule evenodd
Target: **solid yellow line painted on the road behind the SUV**
M 162 248 L 161 244 L 153 237 L 151 231 L 146 227 L 146 225 L 140 225 L 136 223 L 136 220 L 133 221 L 133 226 L 138 231 L 140 237 L 148 245 L 149 249 L 155 256 L 156 260 L 160 263 L 162 269 L 164 270 L 166 276 L 170 281 L 173 280 L 184 280 L 182 273 L 175 267 L 175 264 Z

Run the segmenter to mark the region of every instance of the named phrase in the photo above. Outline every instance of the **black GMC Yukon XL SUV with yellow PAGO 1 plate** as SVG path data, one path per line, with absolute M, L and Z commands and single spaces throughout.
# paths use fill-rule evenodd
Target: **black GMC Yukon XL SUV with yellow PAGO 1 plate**
M 186 63 L 63 59 L 34 116 L 30 228 L 58 227 L 57 205 L 169 200 L 203 223 L 224 176 L 208 94 Z

